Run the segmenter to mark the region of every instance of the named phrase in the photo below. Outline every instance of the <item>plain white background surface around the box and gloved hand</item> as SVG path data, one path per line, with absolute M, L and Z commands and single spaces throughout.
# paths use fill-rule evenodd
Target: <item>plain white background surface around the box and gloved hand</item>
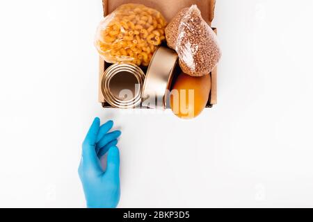
M 0 207 L 84 207 L 99 116 L 122 130 L 120 207 L 313 207 L 313 1 L 218 0 L 218 105 L 104 110 L 100 0 L 0 1 Z

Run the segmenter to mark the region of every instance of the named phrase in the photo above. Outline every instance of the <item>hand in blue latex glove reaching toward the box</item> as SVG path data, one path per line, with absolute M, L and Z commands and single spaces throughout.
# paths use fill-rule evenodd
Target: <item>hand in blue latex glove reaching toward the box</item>
M 95 118 L 83 142 L 79 178 L 83 184 L 87 207 L 113 208 L 120 200 L 120 153 L 117 138 L 119 130 L 108 133 L 113 121 L 100 127 Z M 100 157 L 108 152 L 106 170 L 100 164 Z

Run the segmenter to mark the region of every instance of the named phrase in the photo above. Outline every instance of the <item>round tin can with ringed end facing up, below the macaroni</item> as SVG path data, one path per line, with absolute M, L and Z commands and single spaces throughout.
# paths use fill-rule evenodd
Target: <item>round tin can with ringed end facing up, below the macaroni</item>
M 141 104 L 145 74 L 140 67 L 115 63 L 104 72 L 101 88 L 104 99 L 115 108 L 135 108 Z

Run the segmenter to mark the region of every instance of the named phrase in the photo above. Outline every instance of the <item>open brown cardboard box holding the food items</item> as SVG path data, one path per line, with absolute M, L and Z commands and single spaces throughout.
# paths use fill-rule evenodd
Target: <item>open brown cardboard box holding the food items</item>
M 214 19 L 214 9 L 216 0 L 102 0 L 104 17 L 109 15 L 113 10 L 118 8 L 118 6 L 125 3 L 141 3 L 147 7 L 155 8 L 162 13 L 168 22 L 174 17 L 179 10 L 185 7 L 189 7 L 196 4 L 201 10 L 203 19 L 211 25 Z M 214 28 L 216 32 L 216 28 Z M 109 103 L 106 103 L 101 90 L 102 77 L 104 71 L 109 64 L 104 62 L 102 58 L 99 58 L 99 103 L 102 103 L 104 108 L 112 108 Z M 175 79 L 175 77 L 174 77 Z M 211 72 L 211 92 L 209 95 L 209 100 L 207 102 L 207 108 L 211 108 L 212 105 L 217 103 L 217 69 Z

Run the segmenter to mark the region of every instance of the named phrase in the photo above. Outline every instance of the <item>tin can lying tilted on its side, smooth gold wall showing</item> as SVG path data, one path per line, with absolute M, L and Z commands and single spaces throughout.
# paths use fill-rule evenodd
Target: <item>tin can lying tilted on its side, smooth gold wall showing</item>
M 177 66 L 177 53 L 160 46 L 152 56 L 143 85 L 142 105 L 147 108 L 167 107 L 172 76 Z

